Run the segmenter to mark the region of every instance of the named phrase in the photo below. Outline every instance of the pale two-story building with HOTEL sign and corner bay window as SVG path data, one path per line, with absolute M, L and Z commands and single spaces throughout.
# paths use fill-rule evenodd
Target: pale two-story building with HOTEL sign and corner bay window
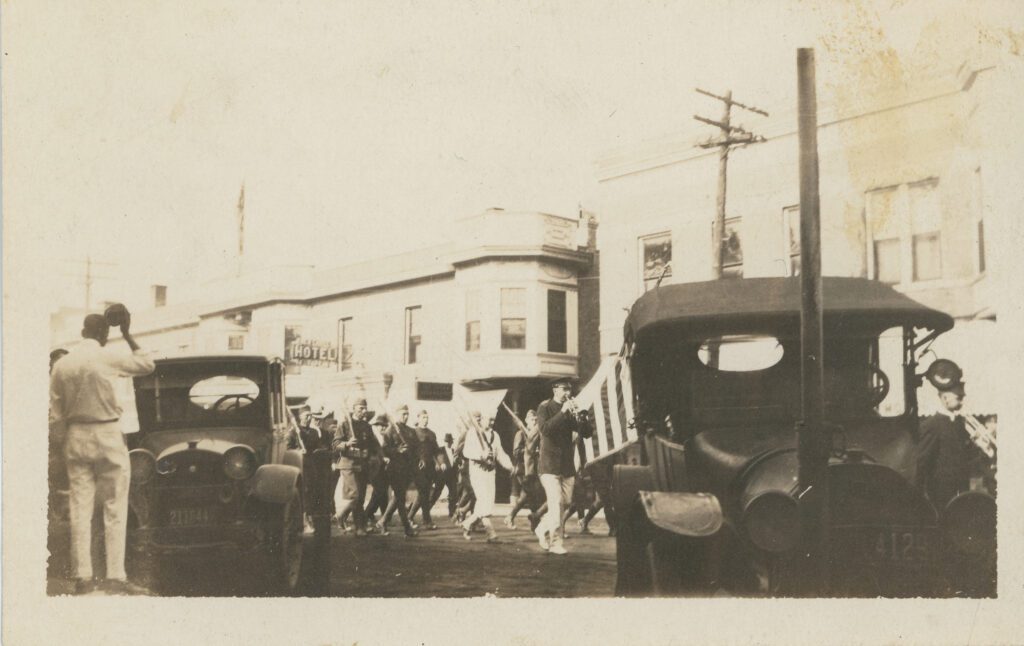
M 430 412 L 443 436 L 460 406 L 486 408 L 511 449 L 515 423 L 499 403 L 522 417 L 550 396 L 552 378 L 579 374 L 580 303 L 597 297 L 596 284 L 581 281 L 596 224 L 490 209 L 456 228 L 450 243 L 410 253 L 267 267 L 213 281 L 186 303 L 127 303 L 133 333 L 158 356 L 282 356 L 289 395 L 339 415 L 357 396 L 378 411 L 406 403 L 414 421 Z M 58 341 L 74 341 L 81 313 L 54 320 Z M 596 345 L 589 350 L 596 357 Z

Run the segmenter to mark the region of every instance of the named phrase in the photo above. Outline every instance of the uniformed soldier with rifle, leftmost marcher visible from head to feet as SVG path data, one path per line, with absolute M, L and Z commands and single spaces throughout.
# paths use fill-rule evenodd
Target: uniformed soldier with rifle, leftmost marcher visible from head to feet
M 364 419 L 366 414 L 367 400 L 359 397 L 352 402 L 351 413 L 338 425 L 331 442 L 340 476 L 334 494 L 335 513 L 342 528 L 344 518 L 348 514 L 352 515 L 357 536 L 366 533 L 362 500 L 367 494 L 371 469 L 380 464 L 381 451 L 373 429 Z

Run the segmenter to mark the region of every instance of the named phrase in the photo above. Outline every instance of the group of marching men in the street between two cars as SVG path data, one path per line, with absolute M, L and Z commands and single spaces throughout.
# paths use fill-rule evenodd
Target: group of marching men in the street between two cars
M 565 554 L 566 521 L 575 514 L 580 531 L 589 533 L 603 507 L 589 477 L 577 470 L 574 456 L 593 429 L 574 411 L 571 388 L 567 380 L 553 382 L 551 398 L 523 420 L 515 418 L 511 455 L 502 446 L 493 416 L 470 412 L 455 434 L 444 433 L 438 441 L 426 411 L 410 425 L 409 406 L 390 415 L 371 413 L 364 398 L 330 414 L 301 406 L 295 443 L 306 454 L 331 451 L 334 519 L 345 533 L 387 535 L 395 514 L 409 537 L 436 529 L 434 506 L 446 492 L 447 518 L 462 527 L 467 541 L 482 532 L 487 543 L 498 543 L 492 516 L 503 469 L 512 479 L 505 526 L 516 529 L 516 517 L 525 510 L 539 545 Z

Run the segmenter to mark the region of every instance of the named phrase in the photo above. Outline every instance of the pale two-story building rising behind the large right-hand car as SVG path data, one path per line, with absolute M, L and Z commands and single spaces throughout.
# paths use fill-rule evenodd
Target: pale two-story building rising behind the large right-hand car
M 988 361 L 1000 351 L 991 234 L 1015 215 L 994 197 L 1010 189 L 1015 165 L 999 141 L 1010 82 L 995 63 L 965 64 L 818 106 L 822 272 L 882 281 L 952 314 L 955 329 L 933 348 L 964 367 L 981 413 L 995 410 Z M 796 99 L 771 114 L 748 123 L 767 141 L 729 157 L 727 277 L 800 270 Z M 696 145 L 709 134 L 695 128 L 597 162 L 588 204 L 601 221 L 602 354 L 618 350 L 625 310 L 659 279 L 713 277 L 719 160 Z M 922 411 L 934 399 L 924 396 Z

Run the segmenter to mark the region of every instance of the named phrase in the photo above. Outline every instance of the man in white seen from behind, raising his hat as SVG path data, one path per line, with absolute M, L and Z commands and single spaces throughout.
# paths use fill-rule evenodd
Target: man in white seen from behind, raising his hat
M 153 359 L 129 333 L 123 311 L 121 335 L 131 353 L 108 348 L 110 326 L 99 314 L 85 317 L 83 341 L 50 375 L 50 430 L 65 438 L 71 483 L 71 547 L 78 593 L 92 588 L 92 511 L 103 508 L 106 578 L 112 592 L 133 592 L 125 574 L 125 532 L 131 466 L 121 432 L 121 405 L 112 380 L 148 375 Z

